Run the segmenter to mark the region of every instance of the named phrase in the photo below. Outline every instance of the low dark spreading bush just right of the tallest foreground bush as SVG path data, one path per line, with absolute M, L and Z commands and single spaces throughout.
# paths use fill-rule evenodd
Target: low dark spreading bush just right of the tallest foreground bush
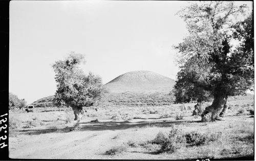
M 192 131 L 190 133 L 185 134 L 186 143 L 191 146 L 200 146 L 208 144 L 209 142 L 217 141 L 220 136 L 221 132 L 219 133 L 199 133 L 197 131 Z

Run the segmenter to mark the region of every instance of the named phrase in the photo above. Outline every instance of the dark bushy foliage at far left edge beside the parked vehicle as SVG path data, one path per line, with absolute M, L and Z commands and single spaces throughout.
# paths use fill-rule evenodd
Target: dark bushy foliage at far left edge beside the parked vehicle
M 18 99 L 16 95 L 9 93 L 9 109 L 20 109 L 26 104 L 25 99 Z

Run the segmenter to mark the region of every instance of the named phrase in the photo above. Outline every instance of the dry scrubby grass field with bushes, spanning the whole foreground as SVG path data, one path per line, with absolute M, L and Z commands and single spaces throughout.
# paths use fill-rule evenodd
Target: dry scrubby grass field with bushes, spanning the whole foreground
M 225 120 L 210 123 L 191 116 L 195 103 L 185 106 L 187 110 L 182 104 L 127 106 L 110 102 L 87 109 L 79 125 L 73 121 L 71 108 L 10 111 L 9 154 L 11 158 L 33 159 L 254 157 L 253 99 L 230 99 Z M 91 122 L 96 119 L 98 122 Z

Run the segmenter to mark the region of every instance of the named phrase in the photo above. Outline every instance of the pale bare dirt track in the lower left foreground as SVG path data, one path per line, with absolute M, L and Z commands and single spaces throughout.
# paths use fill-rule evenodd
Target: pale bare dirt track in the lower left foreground
M 111 137 L 118 131 L 72 131 L 68 133 L 48 133 L 23 135 L 11 142 L 11 158 L 95 158 L 103 154 Z M 16 144 L 15 144 L 16 143 Z

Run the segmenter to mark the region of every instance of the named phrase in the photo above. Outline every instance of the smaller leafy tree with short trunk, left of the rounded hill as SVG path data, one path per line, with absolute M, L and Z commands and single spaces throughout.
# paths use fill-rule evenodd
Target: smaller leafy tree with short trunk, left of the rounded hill
M 101 78 L 92 73 L 84 75 L 79 68 L 81 63 L 85 63 L 83 55 L 72 52 L 65 60 L 52 65 L 57 82 L 54 103 L 72 107 L 78 122 L 83 115 L 82 107 L 92 106 L 100 99 L 103 90 Z

